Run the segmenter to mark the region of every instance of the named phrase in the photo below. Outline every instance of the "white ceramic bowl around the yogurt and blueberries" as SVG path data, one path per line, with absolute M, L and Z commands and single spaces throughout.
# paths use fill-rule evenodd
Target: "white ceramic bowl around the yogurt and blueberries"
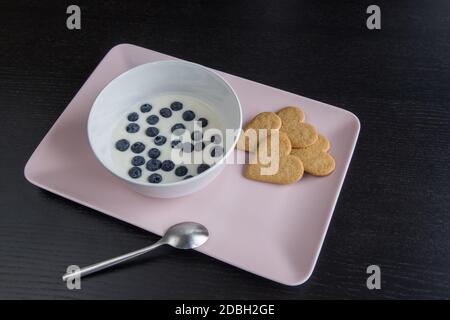
M 113 131 L 132 107 L 151 96 L 179 93 L 208 102 L 224 128 L 240 130 L 242 110 L 236 93 L 217 73 L 195 63 L 167 60 L 140 65 L 111 81 L 97 96 L 88 119 L 88 137 L 97 159 L 135 191 L 150 197 L 175 198 L 198 191 L 216 178 L 233 152 L 237 137 L 228 143 L 222 159 L 191 179 L 150 184 L 118 175 L 112 159 Z

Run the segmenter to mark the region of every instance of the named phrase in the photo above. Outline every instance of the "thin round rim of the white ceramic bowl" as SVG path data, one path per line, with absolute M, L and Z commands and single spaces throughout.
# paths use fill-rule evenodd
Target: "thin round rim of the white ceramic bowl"
M 100 90 L 100 92 L 97 94 L 97 96 L 95 97 L 94 102 L 92 103 L 92 106 L 89 110 L 89 116 L 88 116 L 88 121 L 87 121 L 87 126 L 86 126 L 86 131 L 87 131 L 87 136 L 88 136 L 88 141 L 89 141 L 89 146 L 92 150 L 92 153 L 95 155 L 95 157 L 97 158 L 98 162 L 101 163 L 101 165 L 106 168 L 109 172 L 111 172 L 113 175 L 115 175 L 116 177 L 120 178 L 123 181 L 126 181 L 128 183 L 131 183 L 133 185 L 138 185 L 138 186 L 144 186 L 144 187 L 149 187 L 149 188 L 165 188 L 165 187 L 174 187 L 174 186 L 182 186 L 185 184 L 190 184 L 194 181 L 199 180 L 202 177 L 205 177 L 208 172 L 212 172 L 211 170 L 206 170 L 200 174 L 197 174 L 195 176 L 193 176 L 190 179 L 186 179 L 186 180 L 180 180 L 180 181 L 175 181 L 175 182 L 169 182 L 169 183 L 154 183 L 154 184 L 149 184 L 146 182 L 142 182 L 142 181 L 134 181 L 131 179 L 126 179 L 122 176 L 120 176 L 119 174 L 117 174 L 116 172 L 114 172 L 114 170 L 110 169 L 108 166 L 106 166 L 103 161 L 99 158 L 99 156 L 97 155 L 97 153 L 95 152 L 95 149 L 93 147 L 93 143 L 92 143 L 92 138 L 90 135 L 90 130 L 89 128 L 91 127 L 91 123 L 92 123 L 92 114 L 93 114 L 93 109 L 95 104 L 97 103 L 100 95 L 108 88 L 112 85 L 113 82 L 118 81 L 121 78 L 126 77 L 129 73 L 135 71 L 136 69 L 139 68 L 144 68 L 146 66 L 152 66 L 152 65 L 157 65 L 157 64 L 184 64 L 184 65 L 190 65 L 192 67 L 201 69 L 205 72 L 208 72 L 210 74 L 213 74 L 215 77 L 217 77 L 224 85 L 225 87 L 227 87 L 232 93 L 233 93 L 233 97 L 237 102 L 237 106 L 238 106 L 238 110 L 239 110 L 239 128 L 238 128 L 238 134 L 236 134 L 233 144 L 231 145 L 230 149 L 224 154 L 224 156 L 218 161 L 216 162 L 213 166 L 211 166 L 210 169 L 214 169 L 215 167 L 219 168 L 221 165 L 223 165 L 223 163 L 225 162 L 225 160 L 230 156 L 231 153 L 233 153 L 236 144 L 238 142 L 239 136 L 241 135 L 242 132 L 242 106 L 241 106 L 241 101 L 239 100 L 238 95 L 236 94 L 236 91 L 233 89 L 233 87 L 228 83 L 228 81 L 226 81 L 217 71 L 210 69 L 208 67 L 205 67 L 201 64 L 198 63 L 194 63 L 194 62 L 190 62 L 190 61 L 183 61 L 183 60 L 160 60 L 160 61 L 154 61 L 154 62 L 148 62 L 148 63 L 143 63 L 140 64 L 138 66 L 135 66 L 125 72 L 122 72 L 121 74 L 119 74 L 117 77 L 115 77 L 114 79 L 112 79 L 111 81 L 108 82 L 107 85 L 105 85 L 103 87 L 103 89 Z

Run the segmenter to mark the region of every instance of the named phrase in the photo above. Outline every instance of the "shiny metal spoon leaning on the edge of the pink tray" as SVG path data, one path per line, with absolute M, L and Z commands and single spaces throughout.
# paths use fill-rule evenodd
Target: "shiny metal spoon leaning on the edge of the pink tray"
M 68 279 L 73 279 L 75 277 L 81 278 L 88 274 L 133 259 L 164 244 L 168 244 L 177 249 L 194 249 L 204 244 L 208 240 L 208 237 L 209 237 L 208 229 L 206 229 L 206 227 L 204 227 L 203 225 L 196 222 L 182 222 L 171 226 L 166 231 L 164 236 L 151 246 L 84 267 L 73 273 L 66 273 L 63 276 L 63 280 L 66 281 Z

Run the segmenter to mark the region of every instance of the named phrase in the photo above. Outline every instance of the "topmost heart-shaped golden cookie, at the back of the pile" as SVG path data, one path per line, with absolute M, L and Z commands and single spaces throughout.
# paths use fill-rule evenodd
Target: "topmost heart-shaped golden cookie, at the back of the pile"
M 317 141 L 317 130 L 309 124 L 304 123 L 305 114 L 297 107 L 285 107 L 277 112 L 281 118 L 281 131 L 287 133 L 293 148 L 304 148 Z

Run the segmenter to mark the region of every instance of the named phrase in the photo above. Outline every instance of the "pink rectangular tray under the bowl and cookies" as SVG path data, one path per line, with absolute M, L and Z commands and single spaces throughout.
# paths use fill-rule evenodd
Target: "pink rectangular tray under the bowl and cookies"
M 129 190 L 96 160 L 86 134 L 89 110 L 113 78 L 137 65 L 173 57 L 121 44 L 112 48 L 67 106 L 25 167 L 33 184 L 161 235 L 197 221 L 210 231 L 198 251 L 262 277 L 299 285 L 311 275 L 356 144 L 352 113 L 223 72 L 242 103 L 244 123 L 261 111 L 298 105 L 332 143 L 336 171 L 279 186 L 250 181 L 227 165 L 208 187 L 178 199 L 151 199 Z

